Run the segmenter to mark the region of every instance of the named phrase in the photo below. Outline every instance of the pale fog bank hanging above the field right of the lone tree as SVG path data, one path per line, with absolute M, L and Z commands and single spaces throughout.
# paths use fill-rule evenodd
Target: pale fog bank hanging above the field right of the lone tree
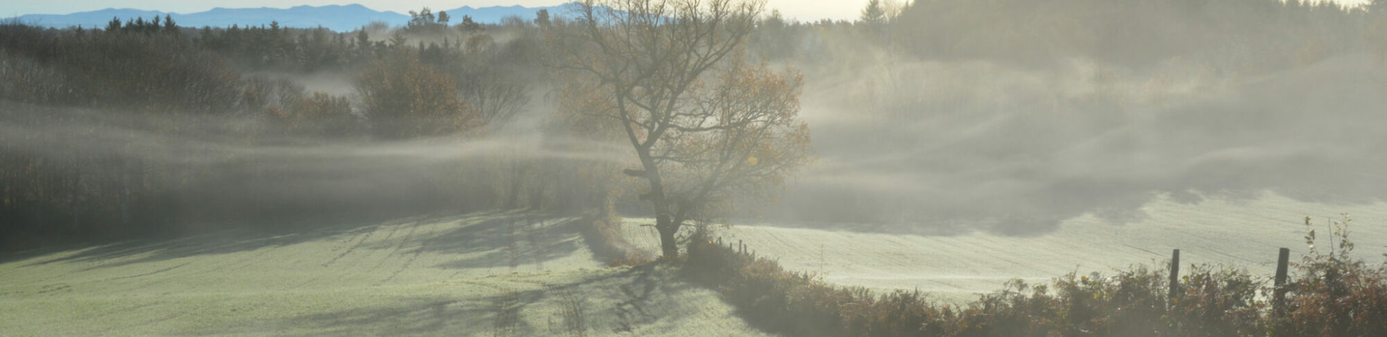
M 803 69 L 821 159 L 767 214 L 779 221 L 1028 236 L 1083 214 L 1135 222 L 1162 194 L 1387 194 L 1387 68 L 1376 55 L 1255 76 L 1179 58 L 1139 69 L 890 53 Z

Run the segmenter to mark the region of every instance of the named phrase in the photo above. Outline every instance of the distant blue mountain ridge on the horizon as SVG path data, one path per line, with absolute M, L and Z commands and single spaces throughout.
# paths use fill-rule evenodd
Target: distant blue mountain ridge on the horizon
M 552 14 L 559 14 L 565 4 L 549 6 L 549 7 L 524 7 L 524 6 L 491 6 L 473 8 L 472 6 L 463 6 L 459 8 L 444 10 L 452 17 L 451 24 L 462 22 L 462 17 L 472 17 L 473 21 L 481 24 L 497 24 L 506 17 L 522 17 L 526 19 L 534 18 L 535 12 L 540 10 L 549 10 Z M 437 10 L 434 11 L 437 12 Z M 83 11 L 72 14 L 28 14 L 12 17 L 8 19 L 18 19 L 19 22 L 39 26 L 51 28 L 67 28 L 67 26 L 86 26 L 86 28 L 104 28 L 111 18 L 121 18 L 121 21 L 128 21 L 133 18 L 153 17 L 164 18 L 164 15 L 173 17 L 173 21 L 179 26 L 258 26 L 269 25 L 272 21 L 279 21 L 280 26 L 293 28 L 327 28 L 338 32 L 352 31 L 361 28 L 372 21 L 384 21 L 390 25 L 404 25 L 409 22 L 409 15 L 399 14 L 394 11 L 377 11 L 368 8 L 361 4 L 329 4 L 329 6 L 295 6 L 290 8 L 222 8 L 216 7 L 208 11 L 200 12 L 165 12 L 165 11 L 146 11 L 133 8 L 105 8 L 98 11 Z

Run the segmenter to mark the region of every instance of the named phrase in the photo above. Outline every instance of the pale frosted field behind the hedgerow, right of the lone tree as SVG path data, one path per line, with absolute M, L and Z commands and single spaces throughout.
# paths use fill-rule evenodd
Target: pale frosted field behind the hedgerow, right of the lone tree
M 968 233 L 914 236 L 735 225 L 724 240 L 742 240 L 759 255 L 779 259 L 793 270 L 818 272 L 838 284 L 878 290 L 933 293 L 942 301 L 974 300 L 976 293 L 1001 288 L 1010 279 L 1049 282 L 1068 272 L 1110 273 L 1129 265 L 1161 265 L 1172 248 L 1180 250 L 1182 270 L 1190 263 L 1222 263 L 1270 277 L 1277 248 L 1291 248 L 1291 261 L 1307 251 L 1305 216 L 1313 218 L 1320 250 L 1329 250 L 1326 221 L 1348 212 L 1355 255 L 1373 263 L 1387 252 L 1387 204 L 1327 205 L 1276 194 L 1255 200 L 1208 198 L 1198 204 L 1157 200 L 1148 215 L 1133 223 L 1112 225 L 1085 215 L 1065 221 L 1054 232 L 1031 236 Z M 652 229 L 626 229 L 632 243 L 657 247 Z M 1294 270 L 1293 270 L 1294 272 Z

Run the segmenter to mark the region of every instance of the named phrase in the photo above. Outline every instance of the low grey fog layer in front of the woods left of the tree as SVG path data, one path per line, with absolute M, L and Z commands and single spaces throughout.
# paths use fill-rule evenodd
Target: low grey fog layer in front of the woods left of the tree
M 284 133 L 254 115 L 0 101 L 0 154 L 37 158 L 35 172 L 10 173 L 29 173 L 35 193 L 68 208 L 58 209 L 67 218 L 35 222 L 35 233 L 90 223 L 98 225 L 83 233 L 93 237 L 316 226 L 515 208 L 513 194 L 528 202 L 519 207 L 538 207 L 541 198 L 551 209 L 580 207 L 587 186 L 559 169 L 614 162 L 626 148 L 542 132 L 546 121 L 537 115 L 523 111 L 467 133 L 390 140 Z M 18 219 L 11 230 L 25 233 L 26 214 L 6 216 Z

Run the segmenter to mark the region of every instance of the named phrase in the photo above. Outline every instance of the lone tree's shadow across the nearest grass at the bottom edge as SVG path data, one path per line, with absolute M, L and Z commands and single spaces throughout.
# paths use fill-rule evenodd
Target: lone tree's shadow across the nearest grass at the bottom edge
M 540 275 L 509 277 L 513 279 L 476 283 L 490 288 L 480 295 L 469 295 L 476 294 L 473 291 L 401 295 L 356 308 L 232 323 L 239 330 L 191 334 L 638 336 L 703 319 L 699 315 L 702 304 L 688 297 L 689 291 L 705 290 L 681 282 L 677 269 L 667 263 L 595 270 L 552 284 Z M 580 309 L 565 309 L 565 305 Z

